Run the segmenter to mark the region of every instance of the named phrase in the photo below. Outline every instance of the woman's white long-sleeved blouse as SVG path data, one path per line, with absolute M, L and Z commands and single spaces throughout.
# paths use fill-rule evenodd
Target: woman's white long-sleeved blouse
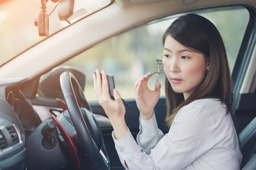
M 240 169 L 242 154 L 230 113 L 218 99 L 199 99 L 179 110 L 167 134 L 156 116 L 140 120 L 137 142 L 128 130 L 115 139 L 125 169 Z

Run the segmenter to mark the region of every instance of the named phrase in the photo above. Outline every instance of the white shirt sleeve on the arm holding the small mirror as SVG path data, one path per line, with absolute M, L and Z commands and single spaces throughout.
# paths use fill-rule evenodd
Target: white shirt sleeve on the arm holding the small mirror
M 186 106 L 185 106 L 186 107 Z M 184 169 L 212 148 L 214 122 L 202 108 L 182 108 L 168 134 L 157 143 L 148 155 L 128 130 L 116 140 L 115 148 L 127 169 Z M 123 164 L 124 165 L 124 164 Z

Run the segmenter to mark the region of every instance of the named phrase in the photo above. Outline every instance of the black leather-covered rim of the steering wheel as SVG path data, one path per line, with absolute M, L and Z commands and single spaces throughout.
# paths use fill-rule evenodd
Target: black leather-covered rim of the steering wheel
M 108 166 L 106 165 L 108 163 L 102 159 L 97 145 L 93 141 L 92 136 L 88 131 L 88 127 L 84 122 L 84 118 L 82 116 L 74 93 L 74 89 L 72 87 L 72 80 L 73 82 L 77 83 L 77 85 L 79 85 L 78 81 L 72 73 L 65 71 L 60 75 L 61 90 L 67 104 L 70 118 L 72 119 L 74 128 L 76 129 L 77 136 L 81 141 L 83 151 L 88 155 L 88 158 L 90 159 L 95 169 L 108 169 Z

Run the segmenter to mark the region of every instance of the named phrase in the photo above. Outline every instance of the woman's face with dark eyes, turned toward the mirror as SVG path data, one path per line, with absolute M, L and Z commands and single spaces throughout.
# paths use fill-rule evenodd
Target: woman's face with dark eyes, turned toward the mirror
M 188 99 L 204 79 L 209 64 L 206 64 L 202 53 L 193 52 L 172 36 L 167 36 L 164 41 L 163 67 L 174 92 L 183 93 L 184 98 Z

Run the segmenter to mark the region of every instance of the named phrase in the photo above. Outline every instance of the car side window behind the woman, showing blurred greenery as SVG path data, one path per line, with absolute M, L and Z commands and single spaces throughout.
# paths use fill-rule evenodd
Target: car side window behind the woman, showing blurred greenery
M 250 17 L 248 10 L 243 6 L 230 6 L 191 13 L 202 15 L 216 25 L 225 43 L 232 73 Z M 134 98 L 134 82 L 148 71 L 157 71 L 155 59 L 163 58 L 163 32 L 180 15 L 184 13 L 154 20 L 124 32 L 80 53 L 63 65 L 77 67 L 86 74 L 84 94 L 88 101 L 97 100 L 92 80 L 95 69 L 104 69 L 106 73 L 115 76 L 116 89 L 124 99 Z M 148 81 L 151 89 L 154 89 L 156 78 L 154 76 Z M 163 74 L 159 81 L 162 84 L 161 96 L 164 96 Z

